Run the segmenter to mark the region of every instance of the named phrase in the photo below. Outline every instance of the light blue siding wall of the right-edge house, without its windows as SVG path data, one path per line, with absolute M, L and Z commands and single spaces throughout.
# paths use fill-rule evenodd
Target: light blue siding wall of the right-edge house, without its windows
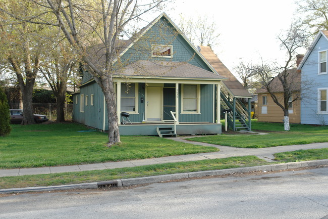
M 310 89 L 302 90 L 301 123 L 328 124 L 328 114 L 318 111 L 318 89 L 328 87 L 328 74 L 318 75 L 318 53 L 328 49 L 328 41 L 321 35 L 307 60 L 302 66 L 302 86 L 311 81 Z

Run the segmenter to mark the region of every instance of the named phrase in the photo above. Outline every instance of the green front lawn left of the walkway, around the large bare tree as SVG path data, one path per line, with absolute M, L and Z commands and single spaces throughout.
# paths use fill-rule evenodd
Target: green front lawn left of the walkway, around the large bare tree
M 121 136 L 120 144 L 106 147 L 107 134 L 78 132 L 76 123 L 12 125 L 10 136 L 0 138 L 0 168 L 74 165 L 146 159 L 218 151 L 149 136 Z

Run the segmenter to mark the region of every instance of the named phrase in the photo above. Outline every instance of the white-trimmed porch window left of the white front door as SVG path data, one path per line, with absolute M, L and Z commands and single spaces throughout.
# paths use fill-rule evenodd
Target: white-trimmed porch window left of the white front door
M 121 84 L 121 112 L 138 113 L 138 84 Z

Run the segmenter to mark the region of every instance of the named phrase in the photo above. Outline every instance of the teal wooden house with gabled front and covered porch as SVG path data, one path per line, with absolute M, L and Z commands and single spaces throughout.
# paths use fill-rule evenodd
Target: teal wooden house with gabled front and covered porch
M 222 132 L 221 87 L 228 78 L 217 73 L 165 13 L 136 37 L 120 40 L 117 48 L 113 81 L 120 135 Z M 101 65 L 102 51 L 94 52 L 95 64 Z M 73 102 L 74 121 L 108 130 L 104 96 L 87 71 Z M 247 116 L 249 112 L 245 119 L 250 124 Z

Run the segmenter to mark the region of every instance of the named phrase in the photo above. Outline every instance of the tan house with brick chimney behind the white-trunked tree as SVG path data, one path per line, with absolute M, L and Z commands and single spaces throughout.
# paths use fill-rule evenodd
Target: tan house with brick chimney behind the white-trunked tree
M 297 55 L 297 65 L 301 62 L 303 55 Z M 301 101 L 291 102 L 295 96 L 300 95 L 300 81 L 301 81 L 301 73 L 296 69 L 289 69 L 289 81 L 293 81 L 294 85 L 294 94 L 293 97 L 290 98 L 289 103 L 289 122 L 290 123 L 300 123 L 301 121 Z M 281 81 L 276 76 L 270 82 L 270 86 L 272 87 L 272 91 L 274 91 L 277 96 L 279 102 L 284 105 L 284 95 L 283 95 L 283 86 Z M 284 111 L 281 107 L 279 107 L 274 100 L 272 100 L 270 94 L 265 89 L 258 89 L 256 91 L 257 97 L 257 120 L 260 122 L 284 122 Z

